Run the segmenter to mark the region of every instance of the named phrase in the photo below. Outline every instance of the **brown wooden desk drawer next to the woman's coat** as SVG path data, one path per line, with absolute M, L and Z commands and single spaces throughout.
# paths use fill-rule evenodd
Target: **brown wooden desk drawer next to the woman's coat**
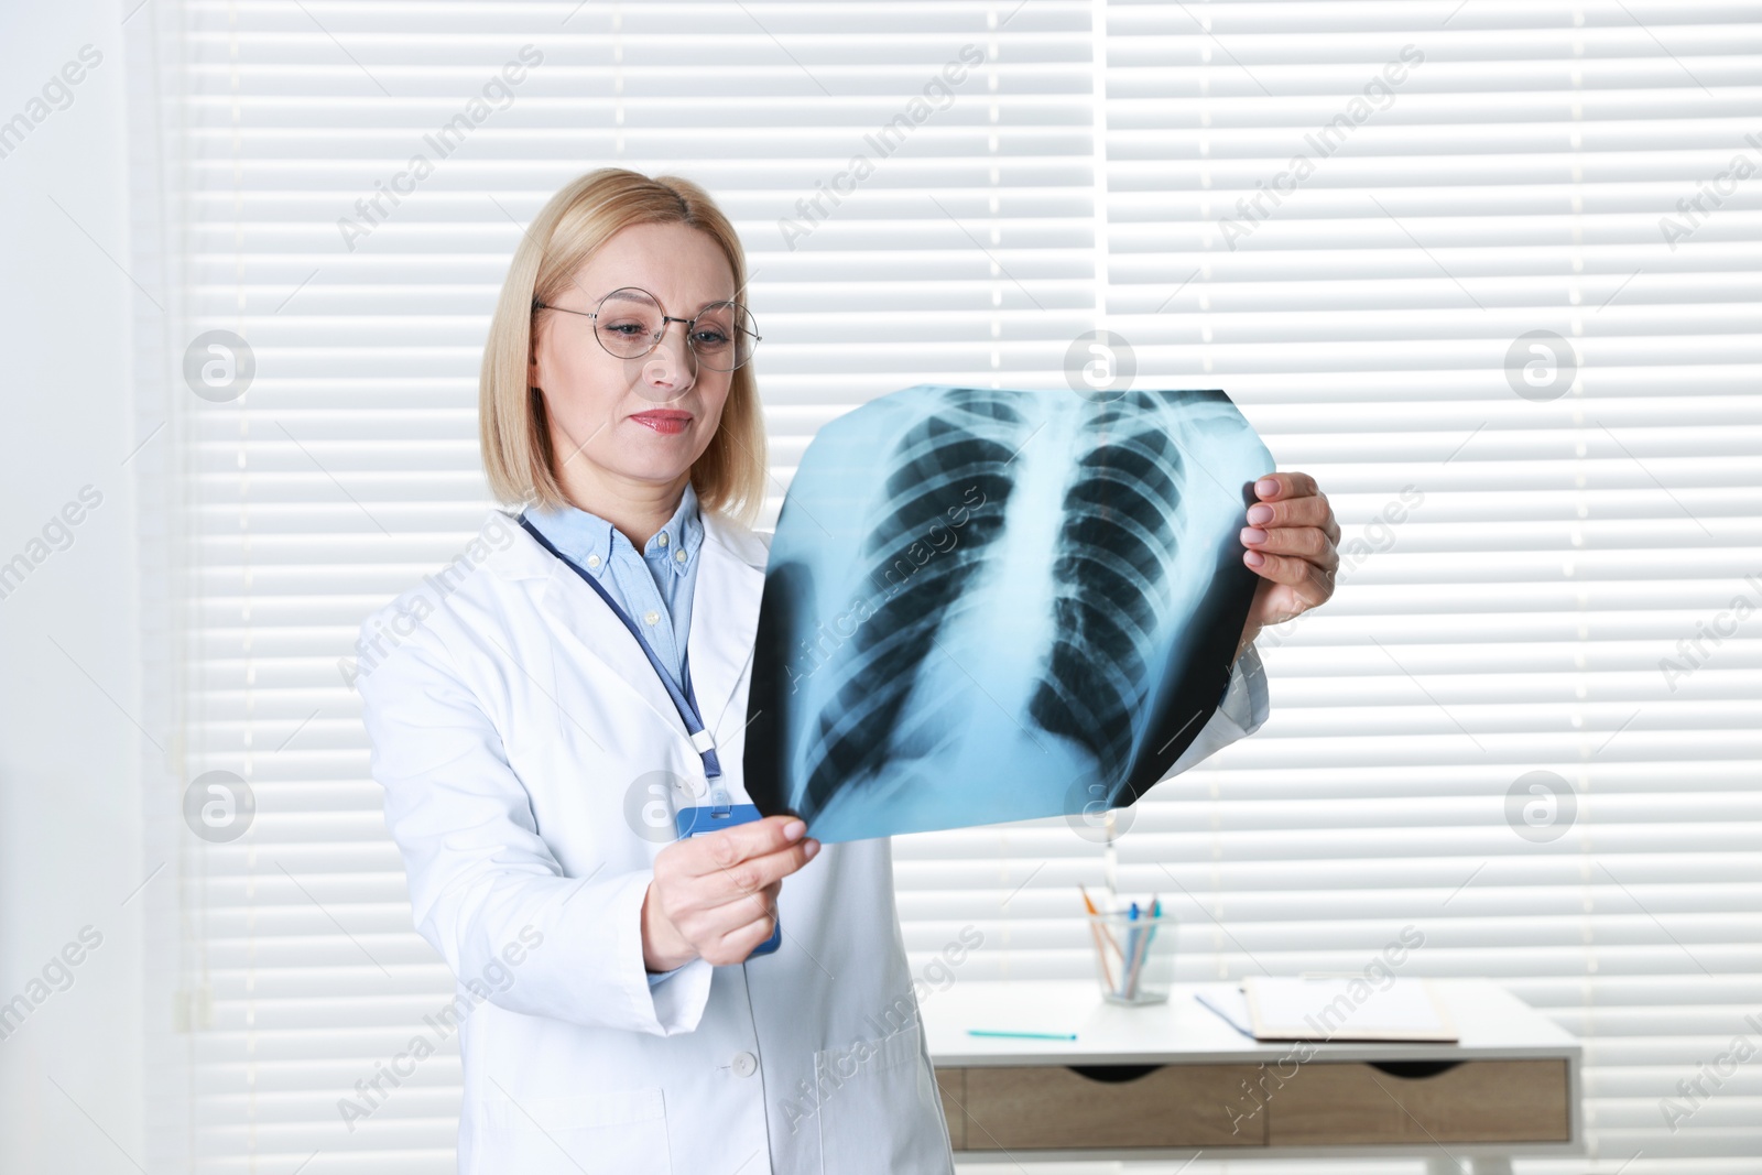
M 996 1066 L 936 1080 L 955 1150 L 1267 1145 L 1263 1113 L 1230 1113 L 1255 1066 Z

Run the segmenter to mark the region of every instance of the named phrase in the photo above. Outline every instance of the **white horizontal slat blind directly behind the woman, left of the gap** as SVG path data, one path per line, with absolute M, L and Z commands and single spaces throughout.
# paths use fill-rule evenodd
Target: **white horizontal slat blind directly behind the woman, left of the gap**
M 354 1129 L 338 1113 L 451 995 L 411 930 L 338 661 L 359 618 L 448 562 L 490 506 L 478 356 L 522 225 L 606 164 L 715 194 L 747 247 L 765 335 L 770 527 L 825 421 L 927 379 L 1018 386 L 1094 324 L 1091 11 L 1011 7 L 159 12 L 180 62 L 160 118 L 183 155 L 185 336 L 231 329 L 255 356 L 241 398 L 185 405 L 189 772 L 243 775 L 259 812 L 187 865 L 192 1094 L 189 1120 L 159 1140 L 183 1156 L 178 1170 L 294 1170 L 314 1152 L 322 1171 L 453 1170 L 451 1046 Z M 506 107 L 439 159 L 437 129 L 532 56 Z M 944 69 L 964 74 L 946 93 Z M 907 130 L 881 144 L 900 115 Z M 433 171 L 391 204 L 381 192 L 416 153 Z M 803 204 L 855 155 L 874 166 L 855 192 Z M 1062 830 L 990 830 L 932 853 L 966 872 L 950 893 L 941 865 L 902 854 L 920 964 L 946 941 L 946 909 L 973 904 L 978 925 L 1015 888 L 1010 868 L 1092 863 L 1098 849 Z M 997 965 L 1057 971 L 1045 964 L 1057 950 L 987 927 Z

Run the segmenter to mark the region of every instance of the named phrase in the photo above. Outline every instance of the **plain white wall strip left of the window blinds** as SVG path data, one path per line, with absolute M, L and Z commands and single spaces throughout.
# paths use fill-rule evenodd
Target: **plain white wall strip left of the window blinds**
M 136 446 L 130 308 L 144 303 L 118 268 L 129 262 L 123 12 L 99 0 L 0 4 L 0 122 L 44 113 L 32 99 L 83 46 L 102 55 L 70 102 L 51 88 L 65 109 L 0 144 L 0 562 L 46 555 L 0 599 L 0 1001 L 28 997 L 83 927 L 102 935 L 69 967 L 70 987 L 46 985 L 0 1039 L 9 1175 L 144 1161 L 143 898 L 123 905 L 144 876 L 150 747 L 134 724 L 136 491 L 123 463 Z M 102 502 L 58 537 L 65 550 L 32 548 L 83 486 Z M 53 967 L 51 978 L 65 983 Z

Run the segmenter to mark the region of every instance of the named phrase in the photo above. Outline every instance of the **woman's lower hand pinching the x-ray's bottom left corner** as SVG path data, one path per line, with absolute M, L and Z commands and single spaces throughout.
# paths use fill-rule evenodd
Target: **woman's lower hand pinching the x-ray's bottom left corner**
M 805 831 L 800 817 L 766 816 L 661 849 L 643 895 L 643 965 L 745 962 L 777 927 L 782 879 L 819 853 Z

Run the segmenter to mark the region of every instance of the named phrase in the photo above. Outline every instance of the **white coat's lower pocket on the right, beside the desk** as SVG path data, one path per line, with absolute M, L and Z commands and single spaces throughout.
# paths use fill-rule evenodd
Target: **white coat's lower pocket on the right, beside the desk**
M 825 1175 L 948 1171 L 948 1127 L 916 1029 L 814 1053 Z

